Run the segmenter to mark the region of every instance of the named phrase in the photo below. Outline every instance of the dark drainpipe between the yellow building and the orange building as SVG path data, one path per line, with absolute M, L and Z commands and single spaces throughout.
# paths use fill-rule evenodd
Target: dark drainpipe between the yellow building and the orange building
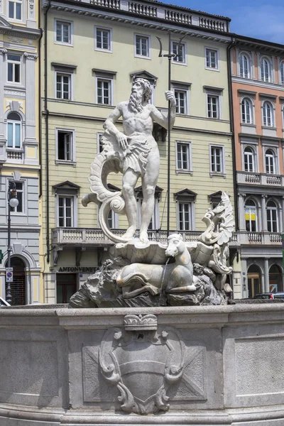
M 231 38 L 231 43 L 226 48 L 226 62 L 228 73 L 229 87 L 229 116 L 230 116 L 230 131 L 231 131 L 231 152 L 233 160 L 233 185 L 234 185 L 234 213 L 236 220 L 236 231 L 239 230 L 239 210 L 238 210 L 238 192 L 236 189 L 236 151 L 235 151 L 235 133 L 234 133 L 234 106 L 233 106 L 233 89 L 231 86 L 231 48 L 236 45 L 236 39 Z

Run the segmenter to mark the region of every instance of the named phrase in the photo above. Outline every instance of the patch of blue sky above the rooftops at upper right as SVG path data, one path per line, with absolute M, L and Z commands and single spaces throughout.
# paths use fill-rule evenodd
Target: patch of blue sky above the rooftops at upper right
M 284 44 L 284 1 L 162 0 L 163 3 L 229 16 L 231 32 Z

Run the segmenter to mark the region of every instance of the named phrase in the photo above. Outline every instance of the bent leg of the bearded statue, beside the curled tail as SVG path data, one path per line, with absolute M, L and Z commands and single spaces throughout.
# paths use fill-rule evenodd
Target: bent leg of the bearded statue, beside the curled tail
M 138 173 L 128 169 L 122 178 L 122 195 L 124 196 L 126 216 L 129 221 L 129 229 L 127 229 L 123 238 L 126 241 L 133 238 L 137 229 L 137 207 L 134 197 L 134 188 L 138 180 Z

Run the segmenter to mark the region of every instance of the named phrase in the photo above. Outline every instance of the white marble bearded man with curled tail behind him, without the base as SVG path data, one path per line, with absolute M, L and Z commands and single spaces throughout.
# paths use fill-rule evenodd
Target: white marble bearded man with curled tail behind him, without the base
M 92 194 L 86 195 L 82 203 L 100 205 L 99 223 L 109 239 L 114 242 L 130 241 L 137 229 L 137 203 L 134 188 L 139 177 L 142 181 L 143 202 L 141 206 L 141 229 L 139 239 L 148 243 L 148 226 L 151 222 L 155 204 L 155 186 L 160 170 L 158 145 L 152 136 L 153 121 L 168 129 L 168 117 L 149 103 L 151 84 L 148 80 L 138 78 L 133 83 L 129 101 L 121 102 L 104 123 L 102 143 L 104 150 L 99 153 L 92 164 Z M 170 101 L 170 126 L 175 122 L 175 94 L 165 92 L 165 99 Z M 116 121 L 122 117 L 124 133 L 116 128 Z M 123 173 L 122 191 L 111 192 L 107 188 L 107 175 L 111 171 Z M 122 237 L 112 234 L 107 223 L 109 209 L 125 213 L 129 228 Z

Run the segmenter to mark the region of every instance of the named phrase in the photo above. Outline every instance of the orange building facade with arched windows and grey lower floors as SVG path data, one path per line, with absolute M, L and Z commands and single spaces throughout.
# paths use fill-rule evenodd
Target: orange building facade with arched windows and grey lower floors
M 240 297 L 283 291 L 284 46 L 237 36 L 231 48 Z

